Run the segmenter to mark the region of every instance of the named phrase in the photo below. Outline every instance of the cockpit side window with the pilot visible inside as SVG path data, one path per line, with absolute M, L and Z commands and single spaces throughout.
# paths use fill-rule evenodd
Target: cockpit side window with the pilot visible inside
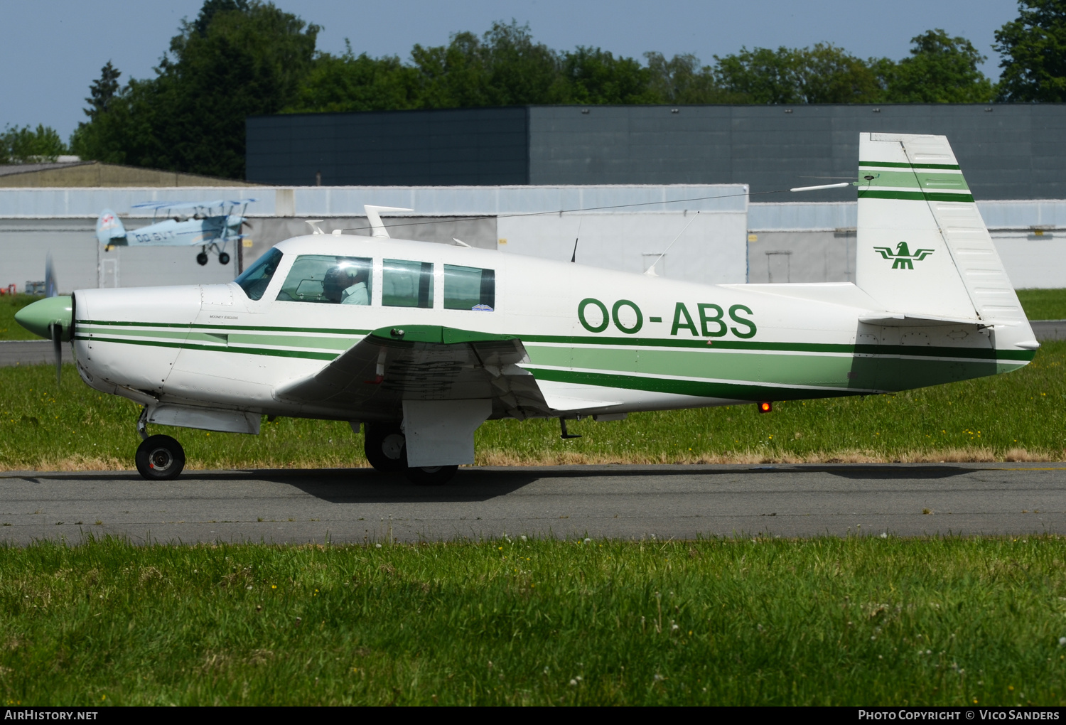
M 318 302 L 334 305 L 369 305 L 373 260 L 302 254 L 292 263 L 277 299 L 281 302 Z

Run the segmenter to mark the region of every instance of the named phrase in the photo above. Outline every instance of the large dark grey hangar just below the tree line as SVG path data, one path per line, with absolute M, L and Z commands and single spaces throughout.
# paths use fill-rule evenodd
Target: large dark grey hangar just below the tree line
M 247 179 L 275 186 L 747 183 L 753 202 L 785 200 L 769 192 L 823 177 L 854 178 L 861 131 L 947 135 L 978 199 L 1066 198 L 1066 104 L 1060 103 L 530 106 L 252 116 Z M 810 196 L 854 198 L 850 189 Z

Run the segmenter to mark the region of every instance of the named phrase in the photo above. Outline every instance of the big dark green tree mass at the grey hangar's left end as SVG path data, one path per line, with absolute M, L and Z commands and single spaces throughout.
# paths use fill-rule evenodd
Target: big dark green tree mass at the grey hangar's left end
M 245 118 L 293 102 L 318 32 L 270 2 L 207 0 L 156 78 L 131 80 L 71 144 L 100 161 L 243 178 Z

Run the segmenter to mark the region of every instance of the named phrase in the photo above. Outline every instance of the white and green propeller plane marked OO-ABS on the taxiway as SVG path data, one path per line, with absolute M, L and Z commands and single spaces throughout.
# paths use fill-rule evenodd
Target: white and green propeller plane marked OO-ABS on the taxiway
M 698 285 L 499 252 L 317 232 L 227 285 L 88 289 L 17 320 L 72 340 L 148 423 L 350 421 L 379 470 L 443 483 L 498 418 L 873 394 L 1016 370 L 1039 347 L 943 136 L 863 133 L 856 283 Z M 462 243 L 461 243 L 462 244 Z

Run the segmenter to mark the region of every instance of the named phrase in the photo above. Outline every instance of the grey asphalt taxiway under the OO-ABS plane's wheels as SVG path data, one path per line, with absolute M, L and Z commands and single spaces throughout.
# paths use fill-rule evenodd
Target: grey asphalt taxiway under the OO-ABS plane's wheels
M 1066 464 L 0 473 L 0 541 L 362 543 L 1066 533 Z

